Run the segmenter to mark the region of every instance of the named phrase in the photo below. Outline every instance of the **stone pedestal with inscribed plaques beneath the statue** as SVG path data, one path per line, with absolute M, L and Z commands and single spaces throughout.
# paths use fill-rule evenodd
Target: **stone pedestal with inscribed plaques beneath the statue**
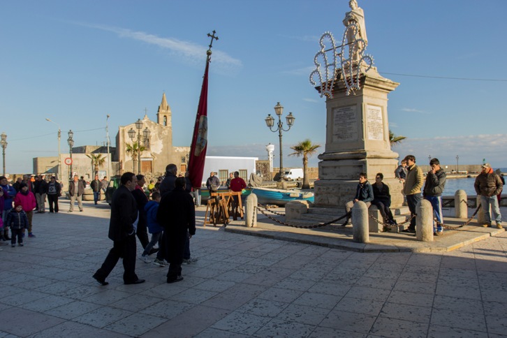
M 366 172 L 370 183 L 377 172 L 390 188 L 391 207 L 403 203 L 403 184 L 395 179 L 398 154 L 389 142 L 388 93 L 399 83 L 383 78 L 372 68 L 360 77 L 361 89 L 346 95 L 341 82 L 335 82 L 333 98 L 326 101 L 325 152 L 318 156 L 315 182 L 317 207 L 343 208 L 355 195 L 359 173 Z

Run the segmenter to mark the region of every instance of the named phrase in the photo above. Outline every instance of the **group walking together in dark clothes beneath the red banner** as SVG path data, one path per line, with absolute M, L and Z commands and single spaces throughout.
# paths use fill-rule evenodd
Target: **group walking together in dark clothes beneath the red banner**
M 189 193 L 188 178 L 177 177 L 177 166 L 166 167 L 166 175 L 152 192 L 152 200 L 142 189 L 143 175 L 126 172 L 120 179 L 121 185 L 111 200 L 111 216 L 108 237 L 113 242 L 104 263 L 93 275 L 101 285 L 123 258 L 124 284 L 140 284 L 135 274 L 137 236 L 143 251 L 141 260 L 150 263 L 149 256 L 156 254 L 154 264 L 167 266 L 167 282 L 182 281 L 182 263 L 195 263 L 190 254 L 190 239 L 196 234 L 196 212 L 193 196 Z M 136 222 L 137 220 L 137 222 Z M 149 240 L 148 232 L 152 234 Z M 155 248 L 155 244 L 158 247 Z M 166 261 L 168 263 L 166 263 Z

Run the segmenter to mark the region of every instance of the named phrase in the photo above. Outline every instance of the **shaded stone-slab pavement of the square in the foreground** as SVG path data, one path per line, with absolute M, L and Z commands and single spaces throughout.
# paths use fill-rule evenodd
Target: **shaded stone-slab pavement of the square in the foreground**
M 184 281 L 137 261 L 99 286 L 109 209 L 35 214 L 1 246 L 0 337 L 505 337 L 507 235 L 438 253 L 360 253 L 198 227 Z M 204 208 L 198 210 L 202 224 Z M 138 244 L 140 253 L 140 245 Z

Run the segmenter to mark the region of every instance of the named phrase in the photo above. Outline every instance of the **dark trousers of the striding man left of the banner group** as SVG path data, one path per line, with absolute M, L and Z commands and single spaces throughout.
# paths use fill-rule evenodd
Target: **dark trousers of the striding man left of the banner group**
M 112 269 L 115 268 L 119 258 L 123 258 L 123 281 L 131 283 L 138 280 L 135 274 L 135 235 L 126 237 L 124 240 L 113 242 L 113 247 L 105 258 L 101 268 L 97 270 L 95 276 L 98 279 L 105 280 Z

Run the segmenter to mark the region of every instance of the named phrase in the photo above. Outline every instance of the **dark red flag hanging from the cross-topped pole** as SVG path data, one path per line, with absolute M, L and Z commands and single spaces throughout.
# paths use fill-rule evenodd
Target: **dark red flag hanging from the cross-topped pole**
M 200 89 L 199 107 L 196 124 L 193 127 L 192 145 L 189 156 L 189 178 L 194 188 L 200 188 L 203 182 L 204 163 L 207 149 L 207 71 L 210 58 L 206 60 L 203 87 Z

